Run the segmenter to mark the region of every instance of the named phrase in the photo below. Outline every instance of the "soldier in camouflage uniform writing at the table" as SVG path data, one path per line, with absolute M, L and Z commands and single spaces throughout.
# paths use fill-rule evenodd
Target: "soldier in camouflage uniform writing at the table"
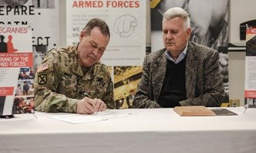
M 114 108 L 111 76 L 99 62 L 109 39 L 108 25 L 93 18 L 77 45 L 50 50 L 34 80 L 36 110 L 93 114 Z

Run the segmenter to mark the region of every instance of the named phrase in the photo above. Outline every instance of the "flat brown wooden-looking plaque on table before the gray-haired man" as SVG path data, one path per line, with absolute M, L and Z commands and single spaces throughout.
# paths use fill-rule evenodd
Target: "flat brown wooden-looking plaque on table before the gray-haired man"
M 216 116 L 209 108 L 204 106 L 178 106 L 173 108 L 180 116 Z

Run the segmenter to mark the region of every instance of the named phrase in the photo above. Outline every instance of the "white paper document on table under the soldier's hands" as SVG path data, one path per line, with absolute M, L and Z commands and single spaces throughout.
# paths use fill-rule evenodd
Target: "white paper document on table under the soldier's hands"
M 66 121 L 73 124 L 78 124 L 78 123 L 88 123 L 88 122 L 94 122 L 94 121 L 106 121 L 114 118 L 127 117 L 129 115 L 135 115 L 135 114 L 129 113 L 129 112 L 107 110 L 107 111 L 97 112 L 97 114 L 94 114 L 94 115 L 70 114 L 70 115 L 56 115 L 56 116 L 51 116 L 49 118 L 53 118 L 60 121 Z

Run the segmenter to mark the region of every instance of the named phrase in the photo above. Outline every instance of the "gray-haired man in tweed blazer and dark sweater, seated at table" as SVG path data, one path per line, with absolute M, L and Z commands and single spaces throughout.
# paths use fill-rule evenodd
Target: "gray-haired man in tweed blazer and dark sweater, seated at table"
M 183 8 L 165 12 L 162 31 L 165 48 L 145 57 L 134 107 L 220 106 L 224 85 L 218 52 L 189 42 L 190 19 Z

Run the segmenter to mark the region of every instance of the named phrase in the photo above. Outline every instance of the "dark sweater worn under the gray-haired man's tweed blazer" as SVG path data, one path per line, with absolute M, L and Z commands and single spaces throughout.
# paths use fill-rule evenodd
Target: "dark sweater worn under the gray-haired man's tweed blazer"
M 166 76 L 157 101 L 163 108 L 174 108 L 186 99 L 186 58 L 175 64 L 167 60 Z

